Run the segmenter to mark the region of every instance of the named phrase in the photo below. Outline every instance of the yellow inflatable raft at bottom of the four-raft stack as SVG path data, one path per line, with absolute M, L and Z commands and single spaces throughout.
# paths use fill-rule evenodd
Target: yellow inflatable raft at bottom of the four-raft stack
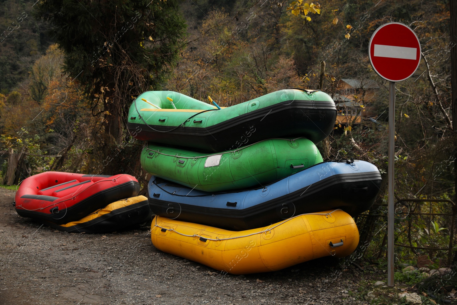
M 239 232 L 156 216 L 151 240 L 161 251 L 226 273 L 248 274 L 330 255 L 348 256 L 357 247 L 359 231 L 354 219 L 340 209 Z

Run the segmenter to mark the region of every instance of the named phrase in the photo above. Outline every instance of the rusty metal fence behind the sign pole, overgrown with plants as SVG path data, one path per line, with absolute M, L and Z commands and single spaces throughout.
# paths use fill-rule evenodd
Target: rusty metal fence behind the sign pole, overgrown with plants
M 399 199 L 395 203 L 395 261 L 415 265 L 427 255 L 431 267 L 451 266 L 457 259 L 456 205 L 447 199 Z M 387 250 L 387 205 L 356 218 L 366 257 L 383 260 Z

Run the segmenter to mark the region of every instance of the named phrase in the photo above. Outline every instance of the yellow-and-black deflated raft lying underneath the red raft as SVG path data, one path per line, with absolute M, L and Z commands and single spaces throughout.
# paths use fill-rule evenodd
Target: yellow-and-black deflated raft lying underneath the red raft
M 150 219 L 150 214 L 148 198 L 140 195 L 110 203 L 103 209 L 98 209 L 78 221 L 64 225 L 57 225 L 49 221 L 42 222 L 69 233 L 109 233 L 129 225 L 144 223 Z

